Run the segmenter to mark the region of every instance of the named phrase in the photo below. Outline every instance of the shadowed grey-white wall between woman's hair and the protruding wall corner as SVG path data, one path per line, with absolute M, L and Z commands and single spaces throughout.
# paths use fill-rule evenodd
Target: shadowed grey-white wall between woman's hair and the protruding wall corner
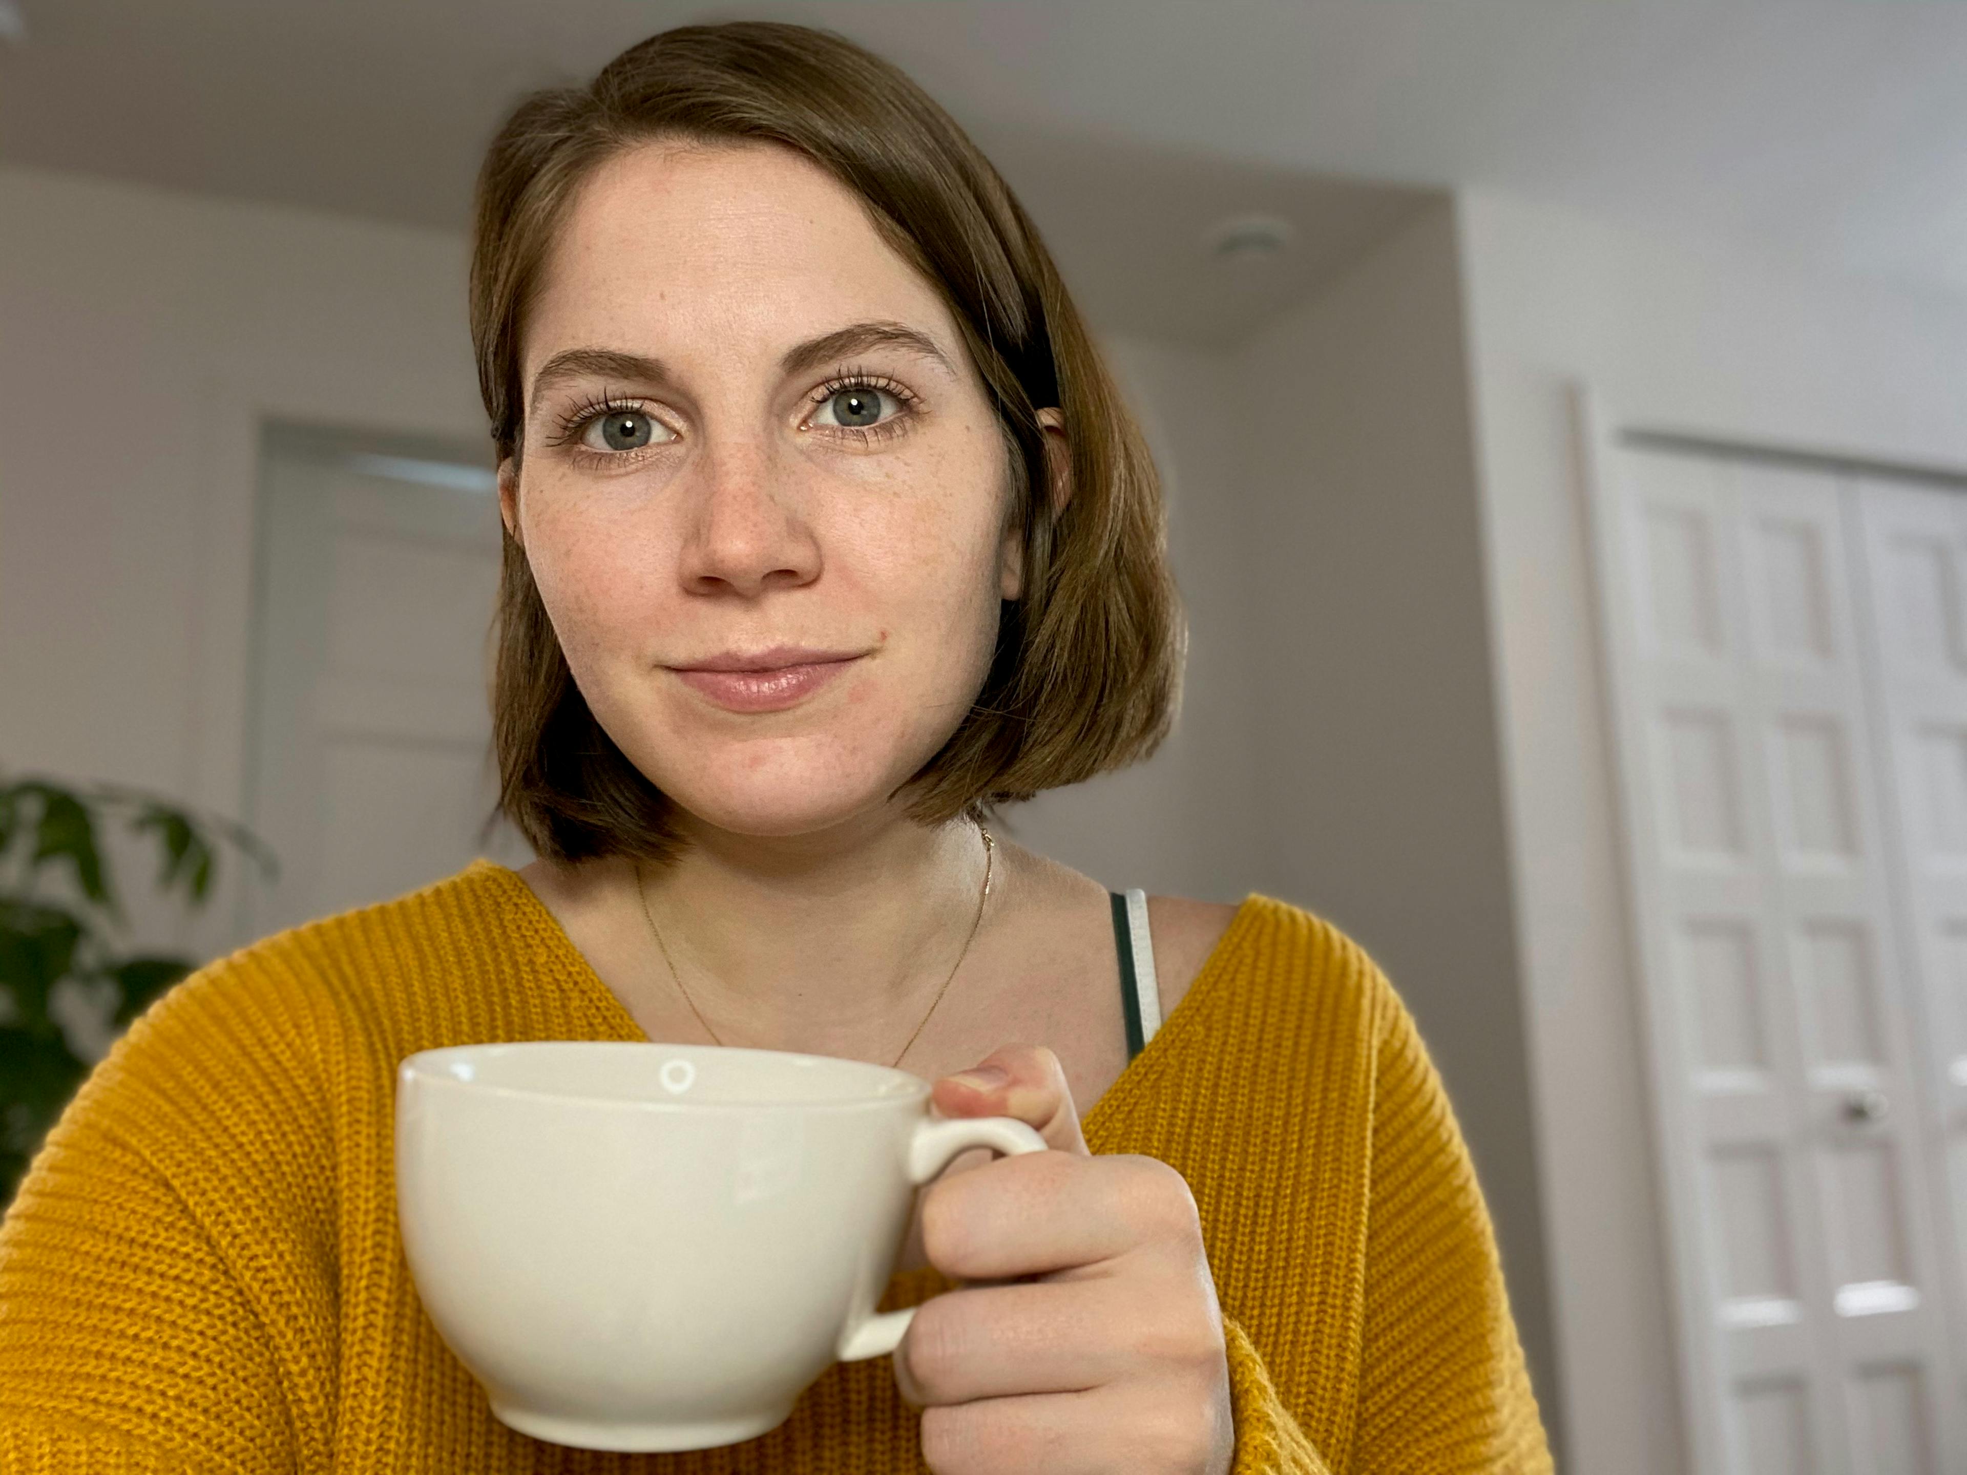
M 1241 354 L 1271 887 L 1387 970 L 1558 1420 L 1452 205 Z

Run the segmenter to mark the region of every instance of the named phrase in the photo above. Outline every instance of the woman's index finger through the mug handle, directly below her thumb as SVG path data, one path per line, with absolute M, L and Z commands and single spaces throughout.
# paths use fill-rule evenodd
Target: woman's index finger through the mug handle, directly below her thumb
M 1155 1158 L 1029 1152 L 923 1196 L 923 1253 L 960 1280 L 1090 1270 L 1157 1243 L 1206 1265 L 1196 1200 Z

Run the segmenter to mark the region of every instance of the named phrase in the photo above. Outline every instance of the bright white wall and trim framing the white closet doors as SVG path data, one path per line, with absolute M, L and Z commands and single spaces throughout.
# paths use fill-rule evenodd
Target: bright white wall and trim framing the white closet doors
M 1619 425 L 1967 470 L 1967 303 L 1460 201 L 1572 1467 L 1684 1467 L 1568 395 Z

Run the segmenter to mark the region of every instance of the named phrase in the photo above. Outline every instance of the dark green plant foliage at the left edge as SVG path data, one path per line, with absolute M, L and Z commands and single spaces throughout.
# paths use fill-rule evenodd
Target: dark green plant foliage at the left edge
M 148 842 L 159 891 L 191 911 L 212 893 L 222 846 L 273 869 L 248 830 L 155 795 L 0 781 L 0 1208 L 90 1068 L 57 1017 L 57 989 L 106 991 L 110 1023 L 124 1029 L 195 966 L 128 946 L 110 854 L 98 844 L 108 826 Z

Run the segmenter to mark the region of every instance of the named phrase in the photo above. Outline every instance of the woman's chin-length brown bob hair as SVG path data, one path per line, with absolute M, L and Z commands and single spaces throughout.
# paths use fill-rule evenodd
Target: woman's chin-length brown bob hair
M 984 688 L 901 793 L 924 822 L 982 816 L 1147 757 L 1180 686 L 1182 618 L 1161 484 L 1086 323 L 1025 210 L 934 100 L 830 31 L 685 26 L 592 85 L 535 92 L 478 175 L 470 317 L 500 460 L 519 454 L 519 340 L 580 185 L 653 140 L 777 144 L 854 191 L 948 303 L 1003 427 L 1023 598 L 1005 602 Z M 1056 507 L 1037 413 L 1058 407 L 1072 496 Z M 492 692 L 500 808 L 553 859 L 677 852 L 671 800 L 602 732 L 507 535 Z

